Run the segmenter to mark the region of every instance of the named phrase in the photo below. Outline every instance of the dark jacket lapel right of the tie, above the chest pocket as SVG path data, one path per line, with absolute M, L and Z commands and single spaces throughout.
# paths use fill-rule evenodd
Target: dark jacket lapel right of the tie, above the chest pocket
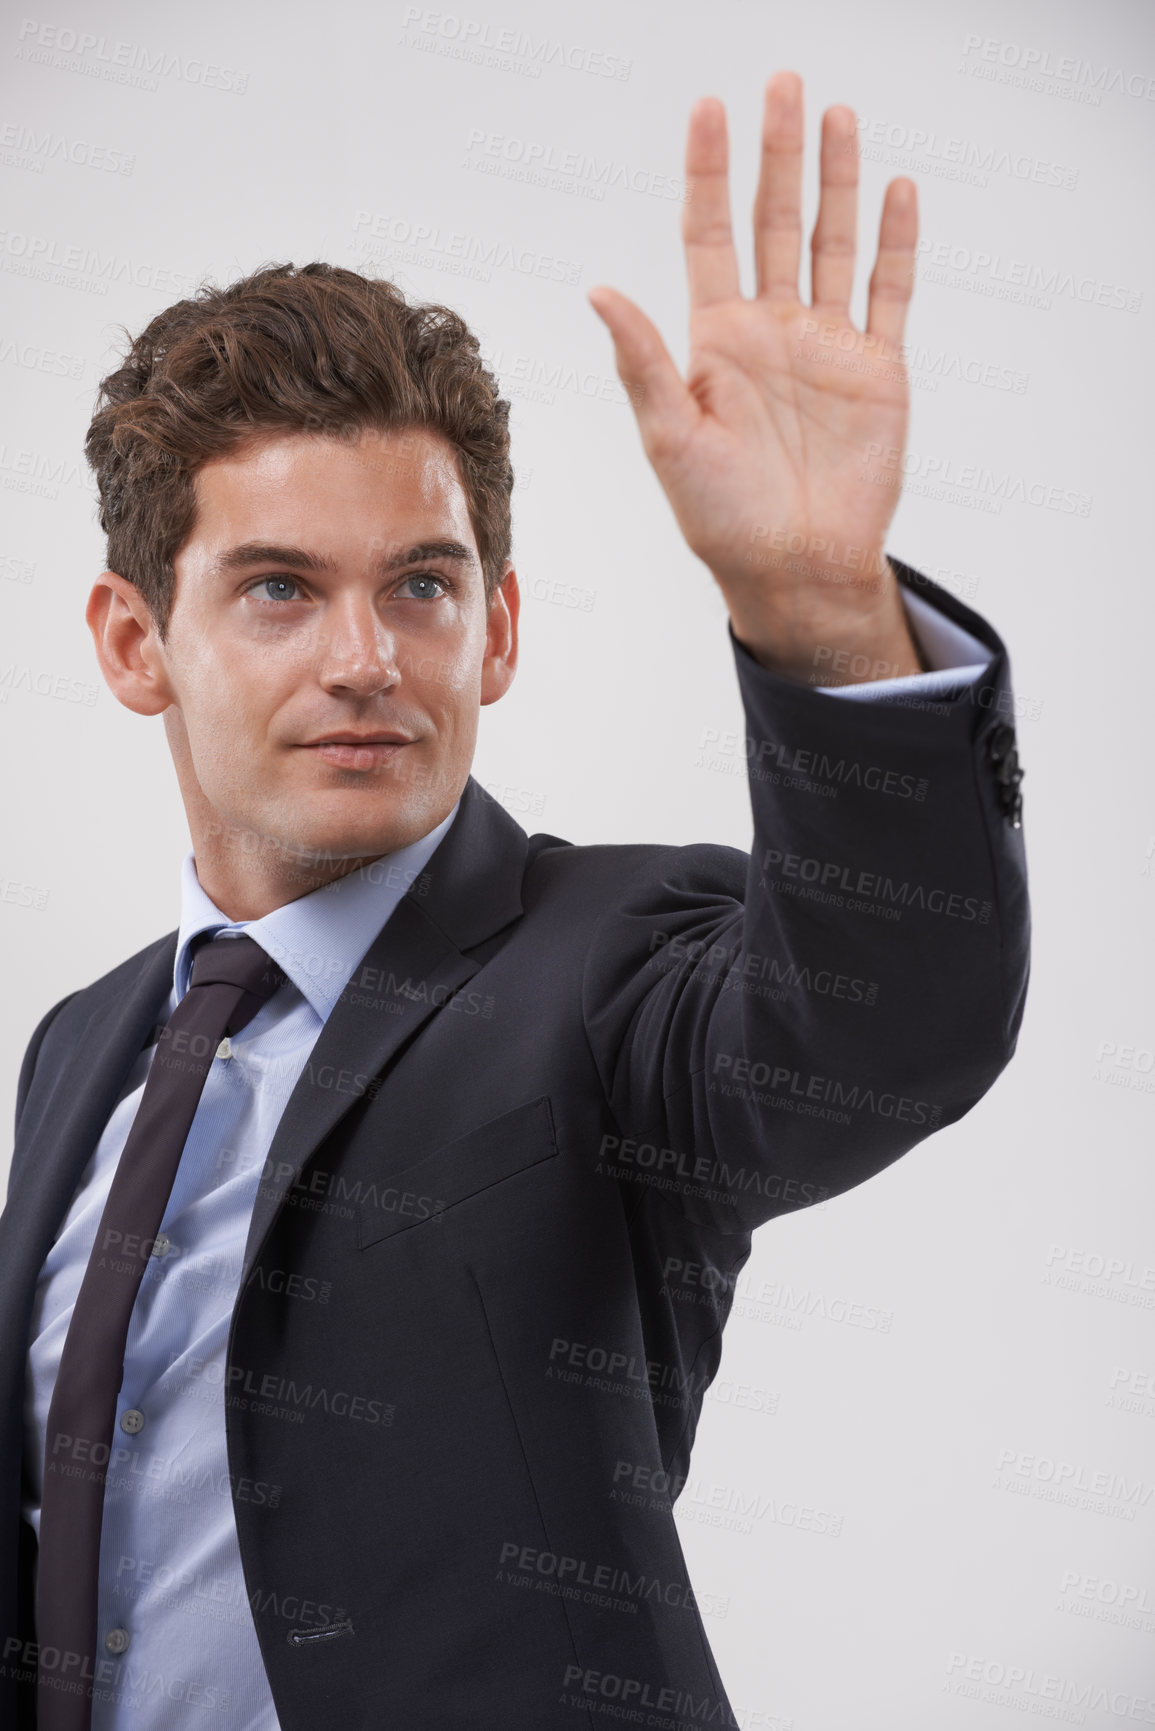
M 521 824 L 469 775 L 457 817 L 353 969 L 289 1096 L 256 1193 L 241 1291 L 305 1162 L 360 1097 L 324 1078 L 381 1075 L 478 971 L 481 959 L 466 952 L 521 912 L 526 848 Z

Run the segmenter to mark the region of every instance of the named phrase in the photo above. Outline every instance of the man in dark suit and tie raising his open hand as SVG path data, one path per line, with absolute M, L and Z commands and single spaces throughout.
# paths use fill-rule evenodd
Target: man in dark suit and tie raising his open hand
M 810 306 L 793 74 L 764 144 L 743 299 L 724 114 L 691 116 L 686 381 L 596 291 L 729 608 L 750 855 L 526 836 L 469 774 L 518 583 L 506 405 L 452 313 L 272 267 L 106 381 L 88 621 L 119 701 L 165 717 L 192 852 L 178 931 L 55 1004 L 21 1068 L 5 1724 L 736 1722 L 672 1508 L 750 1234 L 990 1087 L 1029 938 L 1006 651 L 887 559 L 868 467 L 906 438 L 914 189 L 850 343 L 854 116 L 824 116 Z M 210 1052 L 132 1248 L 113 1184 L 222 933 L 279 983 Z M 97 1451 L 52 1400 L 100 1252 L 144 1276 Z M 94 1638 L 61 1650 L 40 1523 L 94 1471 Z

